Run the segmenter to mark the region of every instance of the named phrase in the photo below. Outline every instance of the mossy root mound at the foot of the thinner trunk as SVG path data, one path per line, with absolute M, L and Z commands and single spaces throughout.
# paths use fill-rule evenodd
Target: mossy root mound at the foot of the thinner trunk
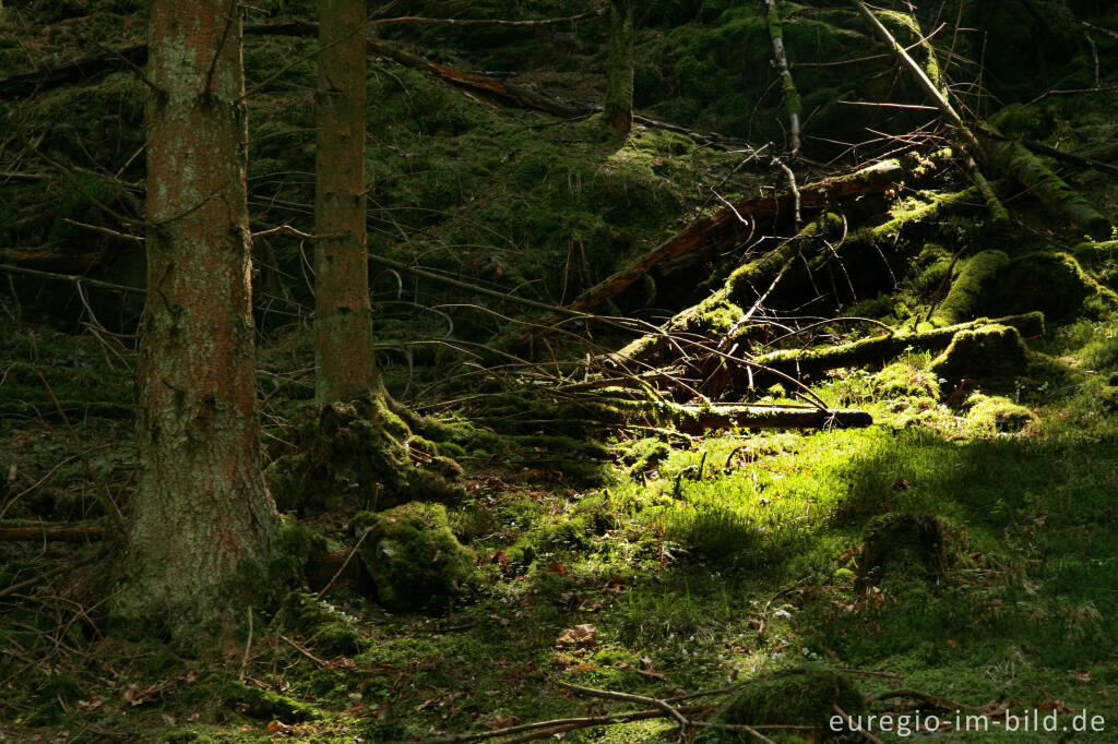
M 376 395 L 315 408 L 293 438 L 296 451 L 265 471 L 282 511 L 354 513 L 414 499 L 446 500 L 462 492 L 451 481 L 461 468 L 414 438 Z

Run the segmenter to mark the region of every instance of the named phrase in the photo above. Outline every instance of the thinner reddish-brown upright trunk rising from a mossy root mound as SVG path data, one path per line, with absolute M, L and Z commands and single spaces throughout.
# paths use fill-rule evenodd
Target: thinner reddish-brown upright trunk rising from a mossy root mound
M 376 382 L 366 256 L 363 0 L 320 0 L 314 200 L 315 399 L 332 403 Z

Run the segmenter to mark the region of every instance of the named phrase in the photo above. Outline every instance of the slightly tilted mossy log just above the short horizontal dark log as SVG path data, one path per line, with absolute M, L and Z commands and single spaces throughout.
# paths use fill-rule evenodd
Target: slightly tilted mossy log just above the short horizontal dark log
M 1016 328 L 1026 337 L 1044 333 L 1043 313 L 1027 313 L 993 321 L 979 318 L 930 331 L 900 331 L 837 346 L 777 351 L 758 356 L 754 361 L 786 374 L 814 375 L 841 366 L 884 364 L 907 351 L 940 351 L 946 349 L 955 338 L 955 334 L 960 331 L 973 331 L 995 324 Z

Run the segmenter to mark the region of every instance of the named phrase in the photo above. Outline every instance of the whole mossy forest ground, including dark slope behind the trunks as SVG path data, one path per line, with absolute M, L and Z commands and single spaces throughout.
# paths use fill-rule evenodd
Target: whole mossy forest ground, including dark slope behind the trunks
M 124 48 L 141 34 L 140 3 L 131 0 L 21 4 L 0 28 L 0 60 L 12 69 L 51 54 L 61 63 L 97 54 L 102 44 Z M 259 4 L 310 13 L 310 3 Z M 519 10 L 495 0 L 416 4 L 435 17 Z M 568 15 L 568 4 L 544 3 L 539 12 Z M 429 276 L 376 271 L 378 360 L 399 400 L 428 413 L 455 411 L 452 426 L 468 426 L 484 407 L 458 406 L 455 397 L 500 398 L 518 374 L 550 369 L 508 356 L 486 366 L 472 356 L 502 343 L 510 316 L 527 317 L 513 296 L 569 303 L 723 202 L 786 187 L 759 144 L 781 140 L 785 116 L 759 3 L 700 3 L 704 10 L 682 19 L 671 8 L 688 3 L 652 4 L 638 35 L 638 107 L 732 139 L 711 143 L 637 126 L 623 140 L 596 117 L 510 108 L 376 59 L 370 251 L 508 295 L 495 301 Z M 824 153 L 819 162 L 789 161 L 800 185 L 891 154 L 899 142 L 915 143 L 921 158 L 939 150 L 944 132 L 925 126 L 930 114 L 919 93 L 888 55 L 865 57 L 877 41 L 858 16 L 832 7 L 842 3 L 815 4 L 794 8 L 786 25 L 792 54 L 808 60 L 796 75 L 812 112 L 808 136 L 818 137 L 805 149 Z M 994 3 L 967 4 L 976 25 L 997 31 L 986 61 L 991 78 L 1001 76 L 998 105 L 1027 102 L 1005 106 L 999 126 L 1112 162 L 1118 37 L 1084 41 L 1083 27 L 1068 21 L 1057 29 L 1064 46 L 1049 49 L 1030 40 L 1026 23 L 1017 27 L 1025 13 L 1011 6 L 997 3 L 1003 18 L 988 10 Z M 1091 18 L 1118 22 L 1107 12 Z M 23 26 L 10 20 L 17 15 Z M 593 102 L 605 58 L 596 28 L 388 28 L 385 36 L 437 50 L 434 58 L 463 69 L 518 70 L 520 82 Z M 1044 34 L 1057 30 L 1045 21 Z M 948 38 L 937 41 L 941 53 Z M 965 35 L 958 42 L 974 58 L 986 53 L 985 42 L 964 49 Z M 249 84 L 301 58 L 310 44 L 247 41 Z M 1042 65 L 1050 50 L 1068 59 Z M 831 66 L 841 59 L 865 67 Z M 951 71 L 960 80 L 977 76 L 964 69 Z M 1100 95 L 1103 84 L 1110 93 Z M 313 86 L 307 59 L 250 101 L 254 229 L 313 229 Z M 1033 87 L 1069 95 L 1036 98 Z M 975 109 L 996 111 L 992 96 L 958 89 Z M 0 149 L 4 261 L 66 273 L 92 266 L 112 282 L 142 280 L 133 244 L 74 222 L 105 221 L 91 194 L 139 214 L 143 95 L 119 70 L 3 103 L 18 142 L 38 142 L 80 175 L 72 182 L 22 145 Z M 861 139 L 869 141 L 850 150 L 837 142 Z M 1096 154 L 1107 146 L 1109 155 Z M 582 461 L 572 461 L 581 456 L 560 438 L 466 448 L 455 458 L 464 493 L 445 505 L 451 531 L 472 551 L 470 576 L 453 599 L 390 612 L 360 572 L 333 582 L 332 571 L 307 575 L 297 590 L 245 608 L 237 633 L 201 654 L 129 638 L 107 612 L 124 555 L 114 522 L 127 513 L 136 466 L 136 359 L 127 332 L 140 303 L 73 283 L 0 285 L 0 536 L 10 530 L 26 537 L 47 524 L 74 531 L 69 540 L 0 540 L 0 741 L 764 741 L 732 728 L 742 723 L 773 741 L 819 741 L 839 700 L 852 715 L 894 716 L 889 727 L 879 718 L 847 741 L 1118 741 L 1118 248 L 1111 240 L 1080 250 L 1083 236 L 1010 179 L 998 187 L 1012 223 L 991 225 L 978 199 L 937 211 L 970 185 L 959 162 L 937 163 L 929 183 L 910 179 L 888 197 L 842 204 L 851 232 L 892 227 L 862 245 L 875 250 L 859 254 L 851 240 L 842 258 L 832 248 L 834 265 L 813 264 L 807 278 L 790 270 L 768 302 L 770 318 L 807 326 L 805 313 L 837 312 L 909 328 L 959 280 L 960 257 L 989 248 L 1013 260 L 1074 254 L 1082 263 L 1072 271 L 1076 287 L 1090 295 L 1074 307 L 1051 276 L 995 287 L 999 311 L 1021 296 L 1026 306 L 1013 312 L 1054 298 L 1059 312 L 1045 333 L 1026 340 L 1042 362 L 977 391 L 954 391 L 932 370 L 932 355 L 916 350 L 883 368 L 841 368 L 811 381 L 827 406 L 870 412 L 874 425 L 865 429 L 684 435 L 598 427 L 587 436 L 610 455 Z M 1118 221 L 1112 177 L 1079 168 L 1064 174 Z M 679 271 L 650 273 L 603 312 L 662 323 L 717 290 L 754 250 L 774 248 L 781 239 L 773 236 L 794 235 L 798 226 L 781 217 L 779 225 L 755 220 L 767 242 L 750 242 L 750 233 Z M 290 236 L 256 241 L 269 456 L 290 449 L 312 390 L 303 248 Z M 830 271 L 833 294 L 813 286 L 812 270 Z M 1080 280 L 1084 271 L 1089 283 Z M 727 330 L 711 325 L 703 330 Z M 815 341 L 854 340 L 855 330 L 816 328 L 823 335 Z M 631 338 L 594 331 L 603 345 L 556 346 L 549 380 L 570 369 L 560 362 L 574 366 L 588 350 Z M 765 333 L 757 338 L 768 343 Z M 571 380 L 584 382 L 582 371 Z M 783 389 L 749 392 L 754 402 L 790 402 Z M 548 425 L 514 422 L 520 435 L 534 436 L 537 426 L 552 433 Z M 326 512 L 302 523 L 331 541 L 332 554 L 352 557 L 352 516 Z M 601 690 L 631 698 L 606 699 Z M 672 709 L 689 722 L 682 732 Z M 586 722 L 574 718 L 625 710 L 651 714 L 575 727 Z M 517 729 L 547 721 L 555 723 Z M 719 722 L 731 727 L 699 725 Z

